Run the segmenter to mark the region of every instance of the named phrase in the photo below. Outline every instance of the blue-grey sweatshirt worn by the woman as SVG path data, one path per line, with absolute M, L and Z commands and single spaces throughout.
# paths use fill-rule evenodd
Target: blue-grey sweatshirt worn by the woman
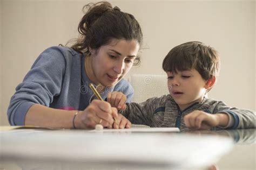
M 7 112 L 10 125 L 24 125 L 26 112 L 36 103 L 56 109 L 84 110 L 93 96 L 84 61 L 84 54 L 68 47 L 54 46 L 41 53 L 11 97 Z M 134 93 L 124 79 L 100 95 L 105 99 L 110 91 L 121 91 L 127 96 L 126 102 L 131 102 Z

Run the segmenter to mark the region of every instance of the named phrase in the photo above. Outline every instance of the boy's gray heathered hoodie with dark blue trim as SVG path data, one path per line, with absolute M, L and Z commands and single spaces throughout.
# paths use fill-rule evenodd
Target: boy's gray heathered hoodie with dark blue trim
M 177 127 L 186 129 L 184 116 L 194 110 L 209 114 L 225 112 L 230 116 L 230 125 L 224 128 L 255 128 L 255 111 L 228 107 L 224 102 L 204 97 L 201 103 L 194 103 L 181 111 L 171 95 L 153 97 L 143 103 L 127 103 L 122 114 L 132 124 L 144 124 L 150 127 Z M 232 122 L 231 122 L 232 120 Z

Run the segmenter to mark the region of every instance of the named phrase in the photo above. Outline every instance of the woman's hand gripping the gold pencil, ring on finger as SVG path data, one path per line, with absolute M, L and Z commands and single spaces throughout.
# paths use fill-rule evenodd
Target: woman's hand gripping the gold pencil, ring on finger
M 78 112 L 75 125 L 77 129 L 94 129 L 96 124 L 101 124 L 104 128 L 112 129 L 113 118 L 118 119 L 116 108 L 105 101 L 93 100 L 84 111 Z

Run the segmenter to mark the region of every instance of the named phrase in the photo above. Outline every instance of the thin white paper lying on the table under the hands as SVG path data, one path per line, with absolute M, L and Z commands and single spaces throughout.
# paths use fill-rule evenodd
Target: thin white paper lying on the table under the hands
M 131 128 L 131 129 L 103 129 L 90 132 L 179 132 L 179 128 Z

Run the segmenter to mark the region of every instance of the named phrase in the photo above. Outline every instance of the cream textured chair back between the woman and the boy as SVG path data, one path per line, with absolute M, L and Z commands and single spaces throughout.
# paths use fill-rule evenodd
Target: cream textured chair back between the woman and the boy
M 166 75 L 134 74 L 127 80 L 134 89 L 132 102 L 141 103 L 151 97 L 169 94 Z

